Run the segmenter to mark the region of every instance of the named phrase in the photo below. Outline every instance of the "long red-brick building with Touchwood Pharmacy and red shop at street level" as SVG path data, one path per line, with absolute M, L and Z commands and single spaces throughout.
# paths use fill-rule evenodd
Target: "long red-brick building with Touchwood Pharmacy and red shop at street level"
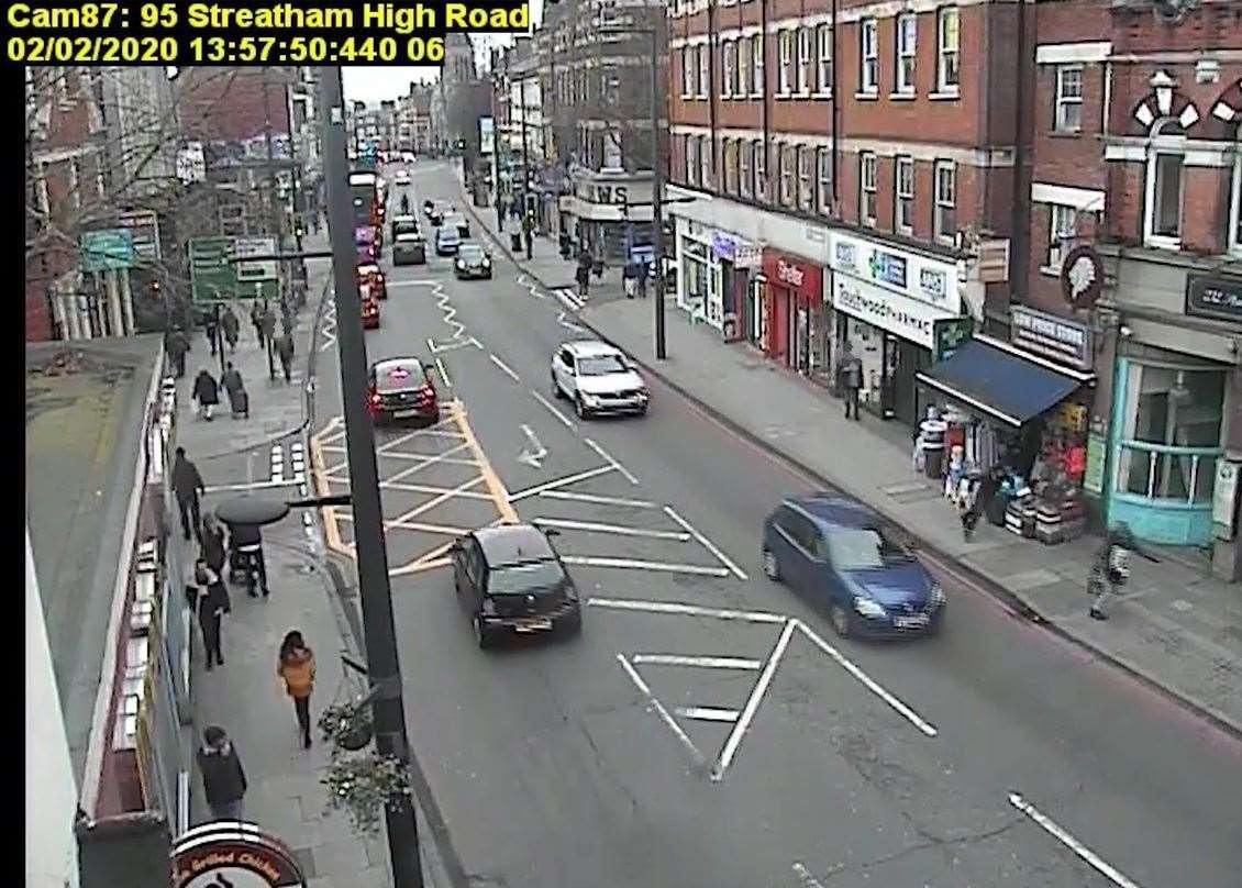
M 1026 40 L 1015 4 L 676 2 L 671 178 L 710 197 L 671 207 L 678 303 L 812 379 L 848 344 L 913 422 L 938 337 L 1006 303 Z

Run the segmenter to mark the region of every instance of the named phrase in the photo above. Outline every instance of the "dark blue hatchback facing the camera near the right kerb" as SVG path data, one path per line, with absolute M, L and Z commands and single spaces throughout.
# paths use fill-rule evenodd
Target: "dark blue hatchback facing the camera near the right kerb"
M 764 573 L 826 612 L 840 636 L 935 632 L 944 591 L 879 518 L 830 494 L 790 497 L 764 522 Z

